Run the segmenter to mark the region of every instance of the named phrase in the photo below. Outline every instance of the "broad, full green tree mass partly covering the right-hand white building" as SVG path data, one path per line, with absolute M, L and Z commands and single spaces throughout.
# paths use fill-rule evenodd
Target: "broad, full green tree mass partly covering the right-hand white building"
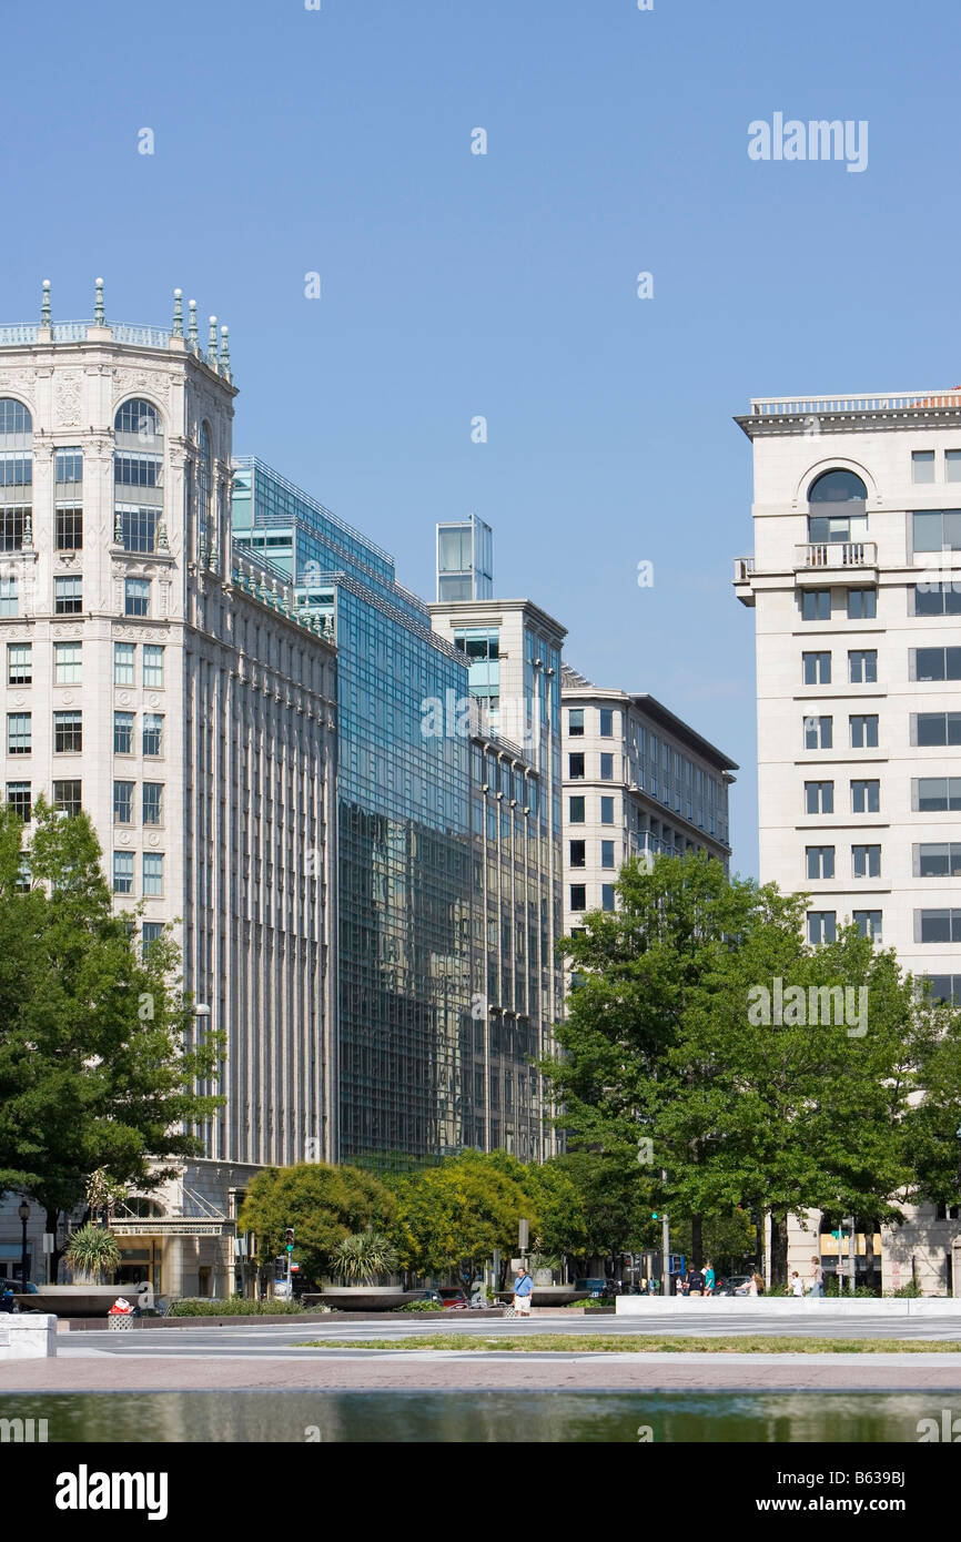
M 657 1209 L 691 1223 L 737 1204 L 768 1209 L 771 1274 L 787 1278 L 788 1215 L 808 1207 L 896 1215 L 910 1177 L 902 1121 L 916 1081 L 916 1010 L 893 954 L 855 928 L 811 948 L 805 896 L 728 880 L 703 856 L 659 857 L 620 876 L 622 908 L 585 917 L 563 942 L 577 971 L 548 1067 L 582 1149 L 626 1163 L 649 1140 L 642 1178 Z M 855 992 L 864 1032 L 841 1021 L 768 1021 L 757 987 Z M 831 1001 L 835 998 L 830 998 Z M 662 1180 L 660 1173 L 666 1172 Z

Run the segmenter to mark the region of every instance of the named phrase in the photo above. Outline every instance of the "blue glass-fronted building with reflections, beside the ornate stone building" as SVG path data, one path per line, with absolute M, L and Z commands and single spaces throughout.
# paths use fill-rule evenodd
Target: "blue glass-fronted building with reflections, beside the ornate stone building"
M 458 1150 L 475 1135 L 461 1056 L 474 1025 L 470 740 L 454 731 L 467 662 L 386 552 L 261 461 L 236 463 L 233 526 L 336 632 L 338 1155 Z

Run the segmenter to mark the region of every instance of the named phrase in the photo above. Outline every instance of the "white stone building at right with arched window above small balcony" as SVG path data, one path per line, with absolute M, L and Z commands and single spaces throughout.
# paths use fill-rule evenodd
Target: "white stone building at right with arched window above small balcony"
M 753 446 L 760 879 L 961 1002 L 961 390 L 762 398 Z M 830 1257 L 836 1241 L 811 1217 Z M 958 1214 L 884 1229 L 884 1286 L 944 1291 Z M 870 1237 L 859 1237 L 862 1263 Z M 797 1227 L 793 1264 L 810 1257 Z

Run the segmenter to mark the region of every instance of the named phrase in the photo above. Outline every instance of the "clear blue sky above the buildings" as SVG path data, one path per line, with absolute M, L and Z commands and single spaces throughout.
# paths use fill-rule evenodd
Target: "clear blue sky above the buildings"
M 956 0 L 8 8 L 0 319 L 42 278 L 88 316 L 100 273 L 108 316 L 165 322 L 180 285 L 204 336 L 230 322 L 238 452 L 427 597 L 435 521 L 477 509 L 498 592 L 565 621 L 577 668 L 740 762 L 754 871 L 731 415 L 961 379 L 959 43 Z M 867 171 L 750 160 L 776 111 L 867 119 Z

